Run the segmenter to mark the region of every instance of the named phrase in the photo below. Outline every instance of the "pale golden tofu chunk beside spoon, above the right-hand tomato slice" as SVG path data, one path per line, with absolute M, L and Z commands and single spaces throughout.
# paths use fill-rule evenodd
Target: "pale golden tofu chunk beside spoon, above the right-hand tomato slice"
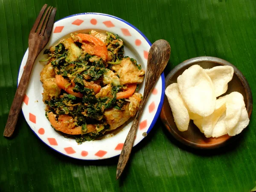
M 113 65 L 112 70 L 119 75 L 120 84 L 142 83 L 145 75 L 143 69 L 139 68 L 130 60 L 130 58 L 123 58 L 120 64 Z

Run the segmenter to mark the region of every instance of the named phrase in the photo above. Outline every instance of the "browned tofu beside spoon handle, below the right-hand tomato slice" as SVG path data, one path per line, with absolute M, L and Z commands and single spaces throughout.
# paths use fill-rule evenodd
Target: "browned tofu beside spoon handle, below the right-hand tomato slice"
M 110 125 L 110 130 L 118 128 L 128 119 L 135 116 L 140 107 L 141 99 L 142 94 L 134 93 L 133 96 L 129 97 L 130 102 L 123 106 L 124 110 L 115 108 L 105 110 L 103 116 L 106 119 L 106 122 Z

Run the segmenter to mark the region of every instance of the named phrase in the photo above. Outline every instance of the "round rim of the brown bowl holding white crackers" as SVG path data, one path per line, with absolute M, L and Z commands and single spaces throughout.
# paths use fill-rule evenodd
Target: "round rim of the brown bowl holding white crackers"
M 212 57 L 212 56 L 200 56 L 200 57 L 195 57 L 195 58 L 190 58 L 190 59 L 187 59 L 185 61 L 183 61 L 182 63 L 178 64 L 177 66 L 175 66 L 169 73 L 168 75 L 166 76 L 166 79 L 165 79 L 165 84 L 166 86 L 168 86 L 168 81 L 170 78 L 172 78 L 172 76 L 175 75 L 175 73 L 177 73 L 177 71 L 179 71 L 180 69 L 182 69 L 183 67 L 186 67 L 190 64 L 195 64 L 195 63 L 198 63 L 198 62 L 203 62 L 203 61 L 208 61 L 208 62 L 212 62 L 212 63 L 217 63 L 217 64 L 221 64 L 221 65 L 229 65 L 231 67 L 234 68 L 234 73 L 236 74 L 236 76 L 239 78 L 239 80 L 241 81 L 241 83 L 243 84 L 244 86 L 244 90 L 245 90 L 245 94 L 246 94 L 246 97 L 247 97 L 247 112 L 248 112 L 248 117 L 250 119 L 250 116 L 251 116 L 251 113 L 252 113 L 252 110 L 253 110 L 253 96 L 252 96 L 252 92 L 251 92 L 251 89 L 250 89 L 250 86 L 247 82 L 247 79 L 244 77 L 244 75 L 241 73 L 241 71 L 236 67 L 234 66 L 233 64 L 231 64 L 230 62 L 224 60 L 224 59 L 221 59 L 221 58 L 217 58 L 217 57 Z M 166 87 L 165 87 L 166 89 Z M 233 137 L 229 137 L 227 138 L 226 140 L 223 140 L 219 143 L 214 143 L 214 144 L 196 144 L 189 141 L 189 140 L 185 140 L 183 137 L 181 137 L 179 134 L 177 134 L 172 128 L 171 126 L 169 125 L 169 122 L 166 120 L 166 115 L 165 115 L 165 112 L 164 112 L 164 106 L 162 108 L 162 111 L 161 111 L 161 115 L 160 115 L 160 118 L 163 122 L 167 122 L 164 123 L 166 129 L 172 134 L 172 136 L 178 140 L 179 142 L 183 143 L 184 145 L 187 145 L 189 147 L 192 147 L 192 148 L 198 148 L 198 149 L 213 149 L 213 148 L 219 148 L 227 143 L 230 143 L 231 141 L 233 140 L 236 140 L 240 134 L 236 135 L 236 136 L 233 136 Z M 168 127 L 169 126 L 169 127 Z

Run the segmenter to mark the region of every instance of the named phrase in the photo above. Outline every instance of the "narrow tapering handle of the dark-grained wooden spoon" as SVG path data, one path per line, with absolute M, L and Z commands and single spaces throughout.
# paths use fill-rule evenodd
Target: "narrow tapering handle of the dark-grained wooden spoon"
M 140 121 L 140 116 L 142 114 L 143 108 L 145 106 L 145 103 L 147 101 L 147 97 L 148 94 L 145 96 L 144 94 L 144 98 L 142 100 L 142 103 L 140 105 L 140 108 L 134 118 L 134 121 L 131 125 L 131 129 L 126 137 L 124 146 L 122 148 L 119 160 L 118 160 L 118 164 L 117 164 L 117 169 L 116 169 L 116 180 L 118 180 L 118 178 L 120 177 L 120 175 L 122 174 L 123 170 L 125 169 L 125 166 L 129 160 L 129 157 L 131 155 L 131 149 L 133 147 L 134 144 L 134 140 L 135 140 L 135 135 L 137 132 L 137 127 Z

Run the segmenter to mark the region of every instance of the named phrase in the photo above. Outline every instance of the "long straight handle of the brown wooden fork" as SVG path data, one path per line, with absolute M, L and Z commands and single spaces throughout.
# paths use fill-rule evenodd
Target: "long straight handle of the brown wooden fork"
M 3 132 L 3 136 L 5 137 L 11 137 L 15 130 L 17 120 L 20 114 L 21 104 L 29 84 L 29 77 L 30 77 L 33 65 L 35 63 L 36 56 L 37 55 L 34 55 L 34 54 L 29 54 L 28 56 L 23 74 L 20 79 L 20 83 L 18 85 L 18 88 L 16 90 L 16 93 L 12 102 L 12 106 L 6 122 L 6 127 Z

